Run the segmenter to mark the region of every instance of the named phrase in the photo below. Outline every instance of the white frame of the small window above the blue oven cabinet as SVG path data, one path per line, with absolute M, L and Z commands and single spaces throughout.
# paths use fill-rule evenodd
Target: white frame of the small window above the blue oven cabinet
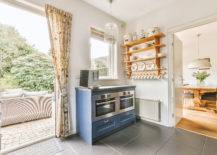
M 102 32 L 102 31 L 101 31 Z M 90 40 L 94 38 L 97 39 L 96 37 L 90 35 Z M 101 39 L 99 39 L 101 40 Z M 102 41 L 102 40 L 101 40 Z M 90 53 L 91 51 L 91 42 L 90 42 Z M 108 76 L 100 76 L 99 79 L 100 80 L 113 80 L 113 79 L 117 79 L 117 42 L 115 43 L 110 43 L 109 44 L 109 62 L 108 62 L 108 66 L 109 66 L 109 75 Z M 91 60 L 91 54 L 90 54 L 90 66 L 91 69 L 95 69 L 92 68 L 92 60 Z

